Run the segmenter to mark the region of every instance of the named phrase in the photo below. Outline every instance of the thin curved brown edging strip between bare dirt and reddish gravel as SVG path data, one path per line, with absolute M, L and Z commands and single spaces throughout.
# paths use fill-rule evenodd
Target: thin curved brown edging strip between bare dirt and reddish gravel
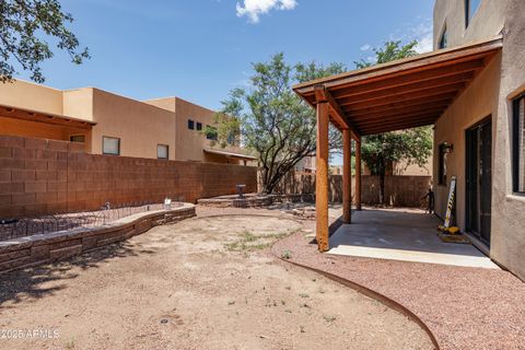
M 337 283 L 340 283 L 345 287 L 351 288 L 351 289 L 355 290 L 357 292 L 359 292 L 363 295 L 366 295 L 366 296 L 369 296 L 369 298 L 371 298 L 375 301 L 378 301 L 380 303 L 382 303 L 383 305 L 385 305 L 385 306 L 387 306 L 392 310 L 397 311 L 398 313 L 408 317 L 410 320 L 417 323 L 418 326 L 420 326 L 421 329 L 423 329 L 423 331 L 427 332 L 430 340 L 432 341 L 432 345 L 434 346 L 434 349 L 435 350 L 441 350 L 440 345 L 438 342 L 438 339 L 435 338 L 434 334 L 430 330 L 429 326 L 427 326 L 424 324 L 424 322 L 421 318 L 419 318 L 415 313 L 412 313 L 410 310 L 402 306 L 398 302 L 396 302 L 396 301 L 389 299 L 388 296 L 385 296 L 385 295 L 383 295 L 383 294 L 381 294 L 381 293 L 378 293 L 378 292 L 376 292 L 376 291 L 374 291 L 370 288 L 366 288 L 362 284 L 359 284 L 359 283 L 355 283 L 353 281 L 347 280 L 347 279 L 345 279 L 340 276 L 332 275 L 330 272 L 323 271 L 323 270 L 319 270 L 319 269 L 316 269 L 316 268 L 313 268 L 313 267 L 310 267 L 310 266 L 306 266 L 306 265 L 302 265 L 300 262 L 291 261 L 289 259 L 284 259 L 280 256 L 278 256 L 273 250 L 271 250 L 271 254 L 281 261 L 284 261 L 284 262 L 288 262 L 290 265 L 293 265 L 293 266 L 296 266 L 296 267 L 300 267 L 300 268 L 319 273 L 319 275 L 322 275 L 322 276 L 324 276 L 324 277 L 326 277 L 326 278 L 328 278 L 328 279 L 337 282 Z

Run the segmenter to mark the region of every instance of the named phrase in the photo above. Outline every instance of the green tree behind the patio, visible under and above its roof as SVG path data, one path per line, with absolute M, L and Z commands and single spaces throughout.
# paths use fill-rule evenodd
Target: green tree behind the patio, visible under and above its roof
M 417 55 L 416 40 L 401 46 L 401 42 L 387 42 L 375 49 L 376 61 L 355 62 L 358 69 Z M 394 162 L 405 161 L 408 165 L 423 166 L 432 154 L 432 129 L 413 128 L 363 137 L 362 158 L 372 175 L 380 176 L 380 205 L 385 205 L 385 174 Z

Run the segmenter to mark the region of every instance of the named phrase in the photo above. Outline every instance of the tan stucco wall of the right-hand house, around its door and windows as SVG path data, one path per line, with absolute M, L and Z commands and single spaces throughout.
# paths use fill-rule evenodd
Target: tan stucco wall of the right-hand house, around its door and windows
M 525 86 L 525 2 L 481 1 L 465 30 L 463 0 L 438 0 L 434 39 L 443 23 L 448 27 L 450 46 L 503 35 L 502 52 L 474 81 L 436 124 L 434 144 L 454 143 L 448 174 L 458 176 L 457 219 L 465 228 L 465 130 L 492 115 L 492 223 L 490 256 L 525 279 L 525 198 L 512 192 L 512 102 Z M 436 154 L 434 150 L 434 154 Z M 438 175 L 434 160 L 434 177 Z M 446 189 L 436 188 L 436 209 L 444 211 Z

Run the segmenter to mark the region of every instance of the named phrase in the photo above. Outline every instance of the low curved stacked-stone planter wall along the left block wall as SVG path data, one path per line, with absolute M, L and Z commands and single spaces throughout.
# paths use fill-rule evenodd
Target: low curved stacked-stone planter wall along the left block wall
M 132 214 L 108 225 L 74 229 L 0 242 L 0 275 L 15 269 L 63 260 L 126 241 L 163 224 L 196 215 L 195 205 Z

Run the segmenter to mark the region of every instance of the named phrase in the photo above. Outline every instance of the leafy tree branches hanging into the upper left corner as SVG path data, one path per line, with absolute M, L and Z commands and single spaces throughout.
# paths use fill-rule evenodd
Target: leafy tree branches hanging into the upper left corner
M 90 55 L 88 48 L 79 48 L 77 36 L 67 28 L 72 22 L 57 0 L 0 0 L 0 81 L 11 81 L 18 63 L 32 73 L 33 81 L 44 82 L 40 63 L 52 57 L 46 36 L 56 40 L 73 63 L 82 63 Z

